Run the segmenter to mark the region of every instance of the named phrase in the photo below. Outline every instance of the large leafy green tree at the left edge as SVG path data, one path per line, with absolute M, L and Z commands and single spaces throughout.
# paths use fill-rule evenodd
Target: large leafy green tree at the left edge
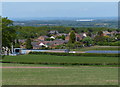
M 16 30 L 15 26 L 13 26 L 13 21 L 9 20 L 7 17 L 2 18 L 2 47 L 10 50 L 15 38 Z

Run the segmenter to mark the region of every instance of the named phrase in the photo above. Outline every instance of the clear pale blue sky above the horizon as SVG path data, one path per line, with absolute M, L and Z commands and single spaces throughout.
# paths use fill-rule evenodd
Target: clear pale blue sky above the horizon
M 117 17 L 117 2 L 3 2 L 2 16 Z

